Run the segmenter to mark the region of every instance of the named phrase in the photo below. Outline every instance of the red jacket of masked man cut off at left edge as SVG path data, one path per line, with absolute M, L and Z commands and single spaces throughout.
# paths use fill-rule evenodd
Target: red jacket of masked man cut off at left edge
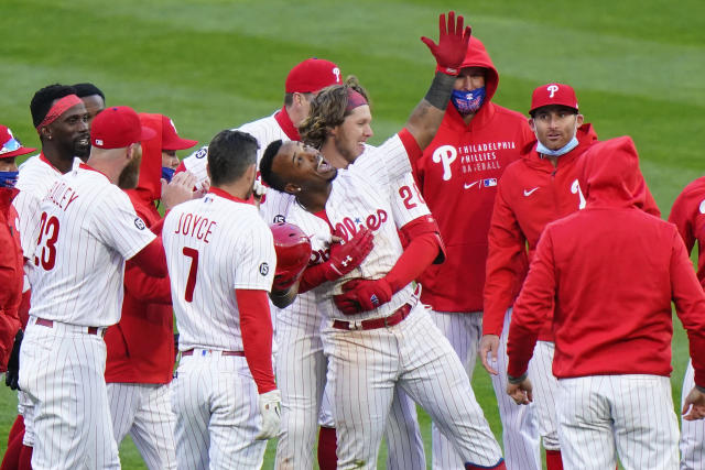
M 14 336 L 20 329 L 24 272 L 18 231 L 18 212 L 12 206 L 17 189 L 0 188 L 0 372 L 6 371 Z

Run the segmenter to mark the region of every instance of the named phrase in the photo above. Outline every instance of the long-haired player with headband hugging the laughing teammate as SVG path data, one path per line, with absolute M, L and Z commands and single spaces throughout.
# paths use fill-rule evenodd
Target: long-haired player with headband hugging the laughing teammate
M 358 91 L 364 99 L 348 99 L 348 90 Z M 362 151 L 373 151 L 373 147 L 368 145 L 359 145 L 372 135 L 369 122 L 371 116 L 362 119 L 364 125 L 357 125 L 359 117 L 354 112 L 356 108 L 367 106 L 366 96 L 366 91 L 354 77 L 348 78 L 345 86 L 325 88 L 312 101 L 311 113 L 300 128 L 304 140 L 321 147 L 326 161 L 337 168 L 345 168 L 350 162 L 361 157 Z M 271 167 L 265 165 L 261 167 L 261 172 L 270 173 Z M 394 195 L 392 217 L 397 227 L 409 237 L 422 233 L 424 223 L 429 223 L 426 219 L 430 211 L 419 196 L 411 174 L 395 181 L 390 189 Z M 365 231 L 360 231 L 358 237 L 344 245 L 330 244 L 333 233 L 328 223 L 303 210 L 291 195 L 271 190 L 262 208 L 265 220 L 295 220 L 295 223 L 308 230 L 307 233 L 312 234 L 314 243 L 323 240 L 321 245 L 315 247 L 316 256 L 312 262 L 315 267 L 307 270 L 302 280 L 306 291 L 351 272 L 372 248 L 371 240 L 369 243 L 367 241 L 371 239 L 371 234 Z M 435 222 L 432 221 L 430 226 L 430 229 L 425 229 L 437 231 Z M 304 467 L 311 468 L 315 418 L 323 403 L 318 419 L 318 466 L 322 469 L 335 468 L 335 423 L 330 413 L 332 406 L 325 405 L 330 402 L 327 396 L 329 389 L 325 389 L 323 401 L 321 396 L 326 370 L 321 341 L 323 313 L 317 307 L 314 293 L 303 293 L 295 302 L 291 308 L 276 310 L 276 343 L 280 358 L 276 361 L 276 378 L 283 394 L 282 436 L 278 444 L 279 461 L 292 462 L 293 468 L 300 468 L 297 462 L 303 461 Z M 425 468 L 415 404 L 400 390 L 395 390 L 384 434 L 389 450 L 387 468 Z

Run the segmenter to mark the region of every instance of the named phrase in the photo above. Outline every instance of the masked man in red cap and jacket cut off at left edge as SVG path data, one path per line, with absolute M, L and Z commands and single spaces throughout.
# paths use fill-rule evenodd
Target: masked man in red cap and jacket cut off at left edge
M 36 149 L 22 146 L 12 131 L 0 125 L 0 371 L 6 372 L 6 384 L 17 389 L 19 373 L 19 354 L 24 325 L 26 324 L 26 305 L 23 304 L 23 264 L 20 233 L 18 232 L 18 214 L 12 206 L 17 196 L 14 187 L 18 179 L 18 166 L 14 159 L 34 152 Z M 23 438 L 22 417 L 18 417 L 8 436 L 7 451 L 0 469 L 20 468 Z M 26 468 L 28 462 L 22 468 Z

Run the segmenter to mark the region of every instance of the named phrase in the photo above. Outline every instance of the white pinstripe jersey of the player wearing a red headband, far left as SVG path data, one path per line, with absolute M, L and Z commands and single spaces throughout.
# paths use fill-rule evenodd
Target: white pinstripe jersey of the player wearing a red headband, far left
M 74 157 L 74 167 L 80 164 L 80 160 Z M 40 203 L 46 192 L 52 187 L 56 178 L 62 174 L 48 162 L 40 159 L 40 154 L 29 157 L 20 165 L 20 176 L 15 187 L 20 193 L 15 196 L 12 204 L 18 211 L 20 220 L 20 242 L 22 243 L 22 253 L 26 259 L 34 255 L 36 247 L 36 238 L 40 227 L 40 215 L 37 214 Z M 32 266 L 31 263 L 28 266 Z M 30 267 L 28 272 L 31 272 Z

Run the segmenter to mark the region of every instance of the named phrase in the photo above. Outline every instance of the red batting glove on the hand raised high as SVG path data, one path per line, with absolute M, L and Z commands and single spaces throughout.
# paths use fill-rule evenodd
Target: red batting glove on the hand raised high
M 465 54 L 467 54 L 473 29 L 467 26 L 464 30 L 463 23 L 463 15 L 458 15 L 456 24 L 455 11 L 451 11 L 446 29 L 445 13 L 441 13 L 438 17 L 438 44 L 436 45 L 433 40 L 426 36 L 421 37 L 421 41 L 429 46 L 431 54 L 436 58 L 438 69 L 444 74 L 458 75 Z

